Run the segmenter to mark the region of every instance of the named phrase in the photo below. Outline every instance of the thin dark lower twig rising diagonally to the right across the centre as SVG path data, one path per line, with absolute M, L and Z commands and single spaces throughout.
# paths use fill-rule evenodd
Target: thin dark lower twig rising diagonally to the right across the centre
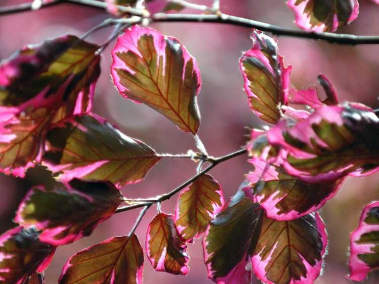
M 116 210 L 115 213 L 120 213 L 120 212 L 132 210 L 132 209 L 135 209 L 135 208 L 140 208 L 140 207 L 144 207 L 144 206 L 148 206 L 148 205 L 152 206 L 155 203 L 162 203 L 163 201 L 165 201 L 167 199 L 170 199 L 173 195 L 175 195 L 176 193 L 178 193 L 179 191 L 181 191 L 183 188 L 185 188 L 189 184 L 193 183 L 199 177 L 201 177 L 204 174 L 206 174 L 207 172 L 209 172 L 213 167 L 215 167 L 219 163 L 222 163 L 222 162 L 224 162 L 226 160 L 232 159 L 232 158 L 234 158 L 236 156 L 245 154 L 246 152 L 247 152 L 246 149 L 241 149 L 239 151 L 235 151 L 235 152 L 227 154 L 225 156 L 222 156 L 222 157 L 219 157 L 219 158 L 215 158 L 214 161 L 212 162 L 212 164 L 210 164 L 205 169 L 203 169 L 203 171 L 201 171 L 200 173 L 198 173 L 196 176 L 192 177 L 191 179 L 187 180 L 186 182 L 184 182 L 180 186 L 176 187 L 175 189 L 173 189 L 169 193 L 163 194 L 160 197 L 155 198 L 155 199 L 151 199 L 151 200 L 150 199 L 145 199 L 145 200 L 148 200 L 146 202 L 140 202 L 140 203 L 133 204 L 133 205 L 119 207 L 119 208 L 117 208 L 117 210 Z

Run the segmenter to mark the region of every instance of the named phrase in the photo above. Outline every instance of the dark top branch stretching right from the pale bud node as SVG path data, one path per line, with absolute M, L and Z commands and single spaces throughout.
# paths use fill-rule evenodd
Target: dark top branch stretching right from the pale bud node
M 330 43 L 340 44 L 379 44 L 379 36 L 357 36 L 353 34 L 336 34 L 336 33 L 314 33 L 297 29 L 283 28 L 258 22 L 246 18 L 230 16 L 226 14 L 219 15 L 196 15 L 196 14 L 155 14 L 153 22 L 194 22 L 194 23 L 218 23 L 229 24 L 247 28 L 256 28 L 262 31 L 271 32 L 275 35 L 293 36 L 299 38 L 320 39 Z

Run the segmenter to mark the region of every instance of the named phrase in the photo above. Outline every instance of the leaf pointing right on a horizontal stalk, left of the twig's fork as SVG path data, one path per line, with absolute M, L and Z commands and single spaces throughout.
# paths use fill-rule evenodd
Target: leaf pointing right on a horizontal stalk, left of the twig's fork
M 141 181 L 159 161 L 153 149 L 121 133 L 96 115 L 77 115 L 50 128 L 43 164 L 62 181 L 72 178 L 112 182 Z

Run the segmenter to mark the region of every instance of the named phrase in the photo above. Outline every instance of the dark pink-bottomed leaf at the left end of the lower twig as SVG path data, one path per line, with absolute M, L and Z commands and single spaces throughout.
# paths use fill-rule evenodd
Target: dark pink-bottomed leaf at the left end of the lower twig
M 20 204 L 15 221 L 42 231 L 41 242 L 61 246 L 89 236 L 122 201 L 111 183 L 74 179 L 67 189 L 32 188 Z

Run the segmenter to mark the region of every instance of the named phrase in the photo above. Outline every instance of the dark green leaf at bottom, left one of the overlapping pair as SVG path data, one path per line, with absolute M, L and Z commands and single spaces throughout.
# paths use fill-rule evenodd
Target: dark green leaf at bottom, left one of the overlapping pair
M 263 211 L 249 198 L 232 202 L 210 223 L 203 239 L 208 277 L 216 283 L 247 284 L 246 270 L 258 241 Z

